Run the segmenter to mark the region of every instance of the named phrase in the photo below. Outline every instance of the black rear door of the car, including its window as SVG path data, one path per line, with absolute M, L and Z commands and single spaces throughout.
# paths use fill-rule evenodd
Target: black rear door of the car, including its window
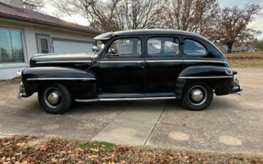
M 146 96 L 175 96 L 183 69 L 180 41 L 173 35 L 149 35 L 146 46 Z

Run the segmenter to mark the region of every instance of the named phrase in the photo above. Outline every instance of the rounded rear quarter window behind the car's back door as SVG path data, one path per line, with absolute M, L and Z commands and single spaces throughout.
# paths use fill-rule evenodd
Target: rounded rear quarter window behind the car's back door
M 206 49 L 205 47 L 193 40 L 186 39 L 183 41 L 183 53 L 188 56 L 205 56 Z

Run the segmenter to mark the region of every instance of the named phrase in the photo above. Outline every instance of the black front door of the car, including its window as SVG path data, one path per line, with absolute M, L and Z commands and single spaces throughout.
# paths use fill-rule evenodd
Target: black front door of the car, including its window
M 100 98 L 144 97 L 143 37 L 117 37 L 100 59 Z

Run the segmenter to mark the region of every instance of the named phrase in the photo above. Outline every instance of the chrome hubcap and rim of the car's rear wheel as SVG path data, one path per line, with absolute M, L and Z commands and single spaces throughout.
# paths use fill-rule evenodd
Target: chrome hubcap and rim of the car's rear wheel
M 188 92 L 188 100 L 194 106 L 200 106 L 207 99 L 207 91 L 203 86 L 193 86 Z

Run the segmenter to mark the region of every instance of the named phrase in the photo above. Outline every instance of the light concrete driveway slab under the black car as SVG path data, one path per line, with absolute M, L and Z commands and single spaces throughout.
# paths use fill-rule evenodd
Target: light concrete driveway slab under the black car
M 205 111 L 176 101 L 75 103 L 61 116 L 45 113 L 37 96 L 16 99 L 18 82 L 0 84 L 0 137 L 56 135 L 128 145 L 224 152 L 263 152 L 263 69 L 237 69 L 243 95 L 215 96 Z

